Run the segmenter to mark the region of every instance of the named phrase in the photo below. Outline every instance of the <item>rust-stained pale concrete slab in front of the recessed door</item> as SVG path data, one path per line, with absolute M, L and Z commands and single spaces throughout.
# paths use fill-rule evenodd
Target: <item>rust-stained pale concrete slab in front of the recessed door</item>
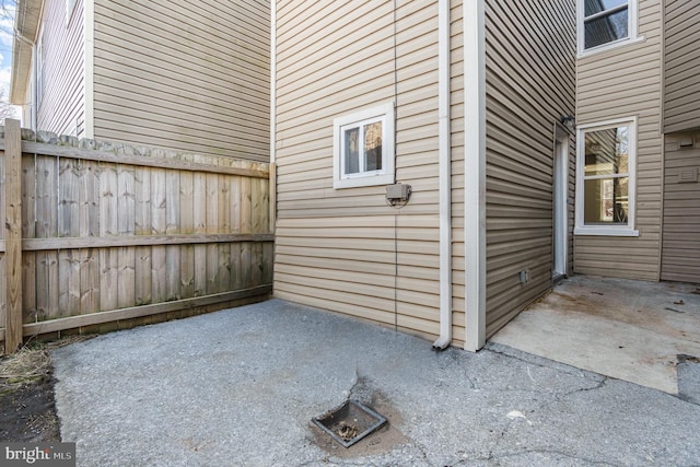
M 697 284 L 574 276 L 491 341 L 669 394 L 700 396 L 700 387 L 682 381 L 679 388 L 677 371 L 678 355 L 700 357 Z

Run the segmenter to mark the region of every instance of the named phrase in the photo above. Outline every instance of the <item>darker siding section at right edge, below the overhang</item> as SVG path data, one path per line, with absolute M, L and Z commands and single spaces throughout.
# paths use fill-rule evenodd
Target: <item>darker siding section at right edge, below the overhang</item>
M 663 280 L 700 283 L 700 133 L 667 135 L 664 159 Z M 695 180 L 692 174 L 695 173 Z

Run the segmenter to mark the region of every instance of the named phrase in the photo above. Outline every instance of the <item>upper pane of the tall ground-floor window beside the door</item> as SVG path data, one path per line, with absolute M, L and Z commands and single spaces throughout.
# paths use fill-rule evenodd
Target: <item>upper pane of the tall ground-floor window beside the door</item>
M 584 174 L 612 175 L 629 172 L 629 128 L 616 127 L 585 133 Z

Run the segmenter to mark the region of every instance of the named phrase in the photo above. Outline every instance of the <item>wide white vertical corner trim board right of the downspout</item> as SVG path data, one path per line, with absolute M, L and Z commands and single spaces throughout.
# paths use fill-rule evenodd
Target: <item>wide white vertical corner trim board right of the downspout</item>
M 465 349 L 486 343 L 486 51 L 482 0 L 465 0 L 464 248 Z

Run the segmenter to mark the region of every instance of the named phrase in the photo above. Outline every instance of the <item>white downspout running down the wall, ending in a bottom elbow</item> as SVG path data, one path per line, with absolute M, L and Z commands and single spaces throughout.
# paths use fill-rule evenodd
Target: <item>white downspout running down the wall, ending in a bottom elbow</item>
M 438 2 L 438 140 L 440 176 L 440 338 L 433 349 L 452 342 L 452 138 L 450 131 L 450 0 Z

